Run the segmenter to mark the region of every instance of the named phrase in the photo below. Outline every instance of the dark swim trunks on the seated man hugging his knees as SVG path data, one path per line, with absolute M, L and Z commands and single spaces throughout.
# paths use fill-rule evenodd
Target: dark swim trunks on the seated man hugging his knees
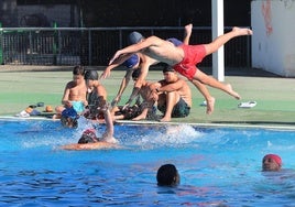
M 157 109 L 165 113 L 166 112 L 166 105 L 159 106 Z M 183 98 L 179 99 L 179 101 L 173 107 L 171 117 L 172 118 L 182 118 L 187 117 L 189 115 L 190 107 L 184 101 Z

